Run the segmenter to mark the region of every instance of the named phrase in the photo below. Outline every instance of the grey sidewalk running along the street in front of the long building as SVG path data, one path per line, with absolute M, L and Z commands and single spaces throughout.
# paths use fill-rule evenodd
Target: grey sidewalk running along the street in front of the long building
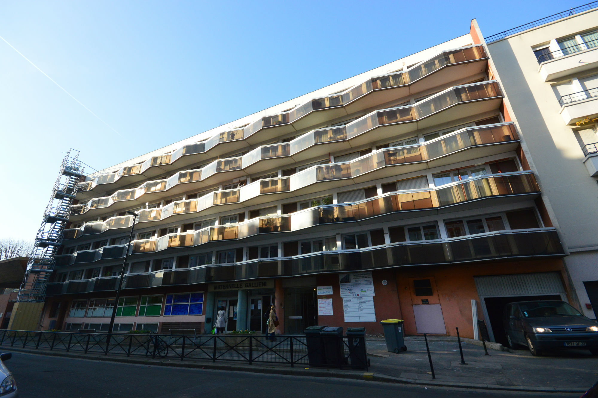
M 484 356 L 481 345 L 462 340 L 466 365 L 460 364 L 459 345 L 456 338 L 431 337 L 428 339 L 436 378 L 432 379 L 428 354 L 423 338 L 411 336 L 405 339 L 407 351 L 395 354 L 386 351 L 383 338 L 368 338 L 368 372 L 349 369 L 321 369 L 285 364 L 252 364 L 234 361 L 207 360 L 184 361 L 142 356 L 120 356 L 98 353 L 67 353 L 65 351 L 33 350 L 7 347 L 1 351 L 20 351 L 32 354 L 109 360 L 123 363 L 155 364 L 161 366 L 194 367 L 199 369 L 234 370 L 242 372 L 275 373 L 296 376 L 324 376 L 335 378 L 370 379 L 420 385 L 446 387 L 486 388 L 490 390 L 514 390 L 536 392 L 582 393 L 598 380 L 598 357 L 588 351 L 575 350 L 547 357 L 533 357 L 527 350 L 499 351 L 501 345 L 493 344 L 490 356 Z M 477 342 L 476 342 L 477 343 Z

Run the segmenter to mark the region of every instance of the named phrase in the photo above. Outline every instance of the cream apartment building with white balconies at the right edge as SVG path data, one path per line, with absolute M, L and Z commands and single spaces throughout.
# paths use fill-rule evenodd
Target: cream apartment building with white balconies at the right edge
M 487 48 L 562 236 L 579 307 L 596 319 L 598 2 L 532 25 L 487 38 Z

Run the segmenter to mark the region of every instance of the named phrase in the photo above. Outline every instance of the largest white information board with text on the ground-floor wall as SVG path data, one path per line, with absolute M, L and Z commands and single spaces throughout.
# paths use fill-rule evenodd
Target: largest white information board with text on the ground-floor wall
M 371 271 L 338 275 L 345 322 L 376 322 Z

